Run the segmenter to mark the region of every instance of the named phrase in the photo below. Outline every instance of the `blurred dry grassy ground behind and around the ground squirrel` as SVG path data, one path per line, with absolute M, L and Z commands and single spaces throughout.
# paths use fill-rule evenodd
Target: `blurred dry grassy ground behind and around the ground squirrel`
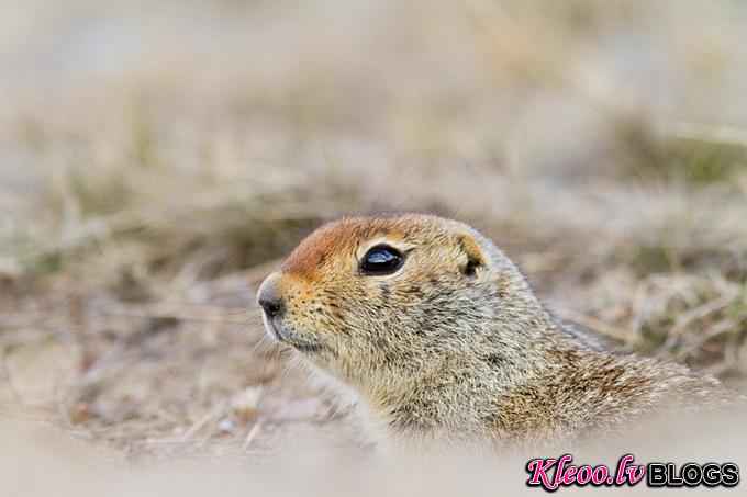
M 0 416 L 115 460 L 358 447 L 267 340 L 337 216 L 454 216 L 562 319 L 747 391 L 740 0 L 5 0 Z

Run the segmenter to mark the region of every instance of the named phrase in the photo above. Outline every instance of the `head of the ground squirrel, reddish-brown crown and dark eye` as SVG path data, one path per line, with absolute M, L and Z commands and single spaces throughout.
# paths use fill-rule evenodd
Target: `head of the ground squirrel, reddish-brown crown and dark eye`
M 354 389 L 470 354 L 536 303 L 490 240 L 447 218 L 344 218 L 305 238 L 258 291 L 270 336 Z

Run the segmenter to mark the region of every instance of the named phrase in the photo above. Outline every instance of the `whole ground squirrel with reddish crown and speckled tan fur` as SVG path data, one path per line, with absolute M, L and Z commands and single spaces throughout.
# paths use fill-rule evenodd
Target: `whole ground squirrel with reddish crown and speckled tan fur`
M 352 389 L 391 447 L 543 447 L 732 398 L 714 377 L 581 339 L 494 244 L 453 219 L 327 224 L 258 302 L 268 332 Z

